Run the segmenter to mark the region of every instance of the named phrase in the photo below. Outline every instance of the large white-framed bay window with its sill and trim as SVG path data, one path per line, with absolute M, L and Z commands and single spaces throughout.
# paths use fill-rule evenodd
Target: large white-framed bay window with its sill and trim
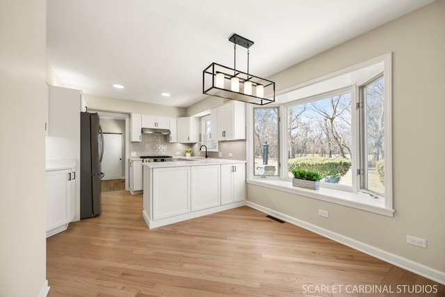
M 289 88 L 249 117 L 249 183 L 393 216 L 390 53 Z M 293 168 L 321 173 L 320 188 L 293 186 Z

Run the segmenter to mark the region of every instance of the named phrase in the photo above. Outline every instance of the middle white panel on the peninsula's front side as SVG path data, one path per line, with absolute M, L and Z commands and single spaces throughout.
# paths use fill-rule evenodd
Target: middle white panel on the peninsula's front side
M 220 165 L 192 166 L 191 211 L 220 205 Z

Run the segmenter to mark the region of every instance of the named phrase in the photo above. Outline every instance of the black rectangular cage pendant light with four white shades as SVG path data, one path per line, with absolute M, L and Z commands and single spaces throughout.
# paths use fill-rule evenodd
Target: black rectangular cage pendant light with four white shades
M 202 71 L 202 93 L 231 100 L 265 105 L 275 102 L 275 83 L 249 73 L 249 47 L 253 41 L 234 34 L 234 67 L 211 63 Z M 248 72 L 236 70 L 236 45 L 248 49 Z

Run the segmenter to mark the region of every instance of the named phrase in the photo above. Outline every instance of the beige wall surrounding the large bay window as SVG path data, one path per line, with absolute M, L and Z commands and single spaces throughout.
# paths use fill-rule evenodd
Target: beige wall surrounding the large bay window
M 251 184 L 248 200 L 445 273 L 444 16 L 435 1 L 270 77 L 283 90 L 392 51 L 394 218 Z

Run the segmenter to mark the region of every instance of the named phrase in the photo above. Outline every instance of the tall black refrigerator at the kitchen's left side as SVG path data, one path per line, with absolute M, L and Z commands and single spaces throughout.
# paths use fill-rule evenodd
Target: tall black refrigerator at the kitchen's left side
M 104 134 L 97 113 L 81 113 L 81 219 L 102 211 L 100 198 Z

